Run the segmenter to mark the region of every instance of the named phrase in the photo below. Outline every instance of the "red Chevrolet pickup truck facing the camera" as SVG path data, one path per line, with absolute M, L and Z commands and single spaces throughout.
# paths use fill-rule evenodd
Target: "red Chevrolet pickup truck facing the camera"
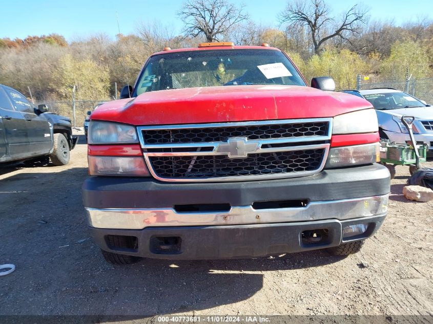
M 266 45 L 153 54 L 89 123 L 83 199 L 106 260 L 359 251 L 389 172 L 372 105 L 334 88 Z

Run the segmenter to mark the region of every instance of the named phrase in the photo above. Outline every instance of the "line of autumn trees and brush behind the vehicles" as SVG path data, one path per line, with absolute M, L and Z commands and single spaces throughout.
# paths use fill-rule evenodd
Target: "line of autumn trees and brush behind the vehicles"
M 0 83 L 36 101 L 101 100 L 133 84 L 150 54 L 163 47 L 196 47 L 202 41 L 236 45 L 266 42 L 290 55 L 308 79 L 329 75 L 338 89 L 353 89 L 356 75 L 370 80 L 433 76 L 433 23 L 427 18 L 397 25 L 369 21 L 361 5 L 343 13 L 324 0 L 290 0 L 275 17 L 278 28 L 253 21 L 229 0 L 187 0 L 176 35 L 162 23 L 142 23 L 130 35 L 96 34 L 67 42 L 61 35 L 0 39 Z M 115 84 L 117 83 L 117 93 Z

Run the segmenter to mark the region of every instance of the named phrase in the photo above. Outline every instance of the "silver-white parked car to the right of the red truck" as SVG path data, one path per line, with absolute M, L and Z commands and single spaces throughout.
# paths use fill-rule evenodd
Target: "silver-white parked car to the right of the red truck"
M 425 101 L 389 88 L 343 92 L 364 98 L 375 107 L 382 139 L 397 143 L 410 141 L 401 117 L 414 116 L 415 140 L 418 144 L 427 144 L 428 155 L 433 155 L 433 108 Z

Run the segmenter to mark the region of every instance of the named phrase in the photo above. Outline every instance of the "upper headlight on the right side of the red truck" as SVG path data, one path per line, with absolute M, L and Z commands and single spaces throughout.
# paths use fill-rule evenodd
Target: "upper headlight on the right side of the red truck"
M 379 131 L 374 109 L 364 109 L 334 117 L 332 134 L 374 133 Z

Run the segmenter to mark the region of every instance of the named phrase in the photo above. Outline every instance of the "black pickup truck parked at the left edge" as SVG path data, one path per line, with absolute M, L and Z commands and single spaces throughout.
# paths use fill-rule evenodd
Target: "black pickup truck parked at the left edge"
M 78 138 L 71 120 L 34 106 L 20 92 L 0 84 L 0 162 L 50 159 L 65 165 Z

